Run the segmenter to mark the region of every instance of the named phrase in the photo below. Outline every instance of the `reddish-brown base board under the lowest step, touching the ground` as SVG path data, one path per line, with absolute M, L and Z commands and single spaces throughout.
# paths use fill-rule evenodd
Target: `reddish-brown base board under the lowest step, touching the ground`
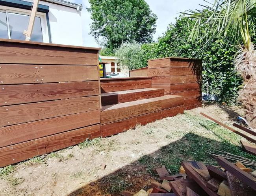
M 127 118 L 124 120 L 119 120 L 116 122 L 107 123 L 100 125 L 102 137 L 111 136 L 120 132 L 127 131 L 136 127 L 136 125 L 146 125 L 147 123 L 154 122 L 156 120 L 161 120 L 167 116 L 176 116 L 177 114 L 183 114 L 183 105 L 172 107 L 169 109 L 164 109 L 161 111 L 156 111 L 149 114 L 144 114 L 140 116 L 135 116 L 133 118 Z

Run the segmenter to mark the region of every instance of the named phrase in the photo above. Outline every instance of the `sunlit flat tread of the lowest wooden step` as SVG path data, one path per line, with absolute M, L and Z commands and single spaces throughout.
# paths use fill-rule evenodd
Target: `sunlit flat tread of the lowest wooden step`
M 150 102 L 155 102 L 155 101 L 160 101 L 160 100 L 173 99 L 173 98 L 178 98 L 178 97 L 183 99 L 184 96 L 164 95 L 164 96 L 160 96 L 160 97 L 154 97 L 154 98 L 143 99 L 143 100 L 136 100 L 136 101 L 132 101 L 132 102 L 124 102 L 124 103 L 117 103 L 117 104 L 114 104 L 114 105 L 106 105 L 106 106 L 102 106 L 102 112 L 109 111 L 109 110 L 114 110 L 114 109 L 119 109 L 119 108 L 123 108 L 123 107 L 130 107 L 130 106 L 133 106 L 133 105 L 139 105 L 139 104 L 143 104 L 143 103 L 150 103 Z

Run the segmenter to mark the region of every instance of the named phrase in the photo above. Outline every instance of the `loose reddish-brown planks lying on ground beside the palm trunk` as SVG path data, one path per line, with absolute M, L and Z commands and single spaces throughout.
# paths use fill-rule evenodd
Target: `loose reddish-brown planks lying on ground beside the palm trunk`
M 248 136 L 248 135 L 244 134 L 241 131 L 237 131 L 237 130 L 233 129 L 232 127 L 229 127 L 228 125 L 225 125 L 224 123 L 219 122 L 218 120 L 215 120 L 214 118 L 212 118 L 212 117 L 210 117 L 210 116 L 208 116 L 204 113 L 200 113 L 200 114 L 202 114 L 204 117 L 212 120 L 213 122 L 225 127 L 226 129 L 238 134 L 239 136 L 242 136 L 243 138 L 249 140 L 250 142 L 256 144 L 256 140 L 254 138 L 252 138 L 251 136 Z M 233 126 L 242 130 L 242 131 L 245 131 L 245 132 L 249 133 L 252 136 L 256 136 L 256 132 L 251 130 L 251 129 L 248 129 L 247 127 L 243 127 L 243 126 L 241 126 L 237 123 L 233 123 Z M 245 142 L 243 140 L 241 140 L 240 142 L 241 142 L 241 145 L 242 145 L 243 149 L 245 150 L 245 152 L 248 152 L 249 154 L 253 154 L 253 155 L 256 156 L 256 145 L 252 145 L 252 144 L 250 144 L 248 142 Z

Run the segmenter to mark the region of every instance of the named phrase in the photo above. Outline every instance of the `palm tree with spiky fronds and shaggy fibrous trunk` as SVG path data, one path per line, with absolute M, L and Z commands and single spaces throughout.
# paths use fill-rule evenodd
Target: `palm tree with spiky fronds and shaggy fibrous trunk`
M 256 34 L 256 0 L 215 0 L 210 6 L 202 7 L 202 10 L 183 13 L 184 17 L 195 20 L 189 39 L 200 36 L 203 47 L 216 39 L 228 40 L 230 45 L 237 46 L 234 66 L 243 78 L 238 100 L 245 108 L 250 127 L 256 129 L 256 50 L 252 43 L 252 36 Z M 222 49 L 227 47 L 221 45 Z

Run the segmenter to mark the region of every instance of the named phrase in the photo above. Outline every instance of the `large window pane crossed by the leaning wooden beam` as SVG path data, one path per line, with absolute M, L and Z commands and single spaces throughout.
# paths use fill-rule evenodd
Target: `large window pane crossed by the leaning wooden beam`
M 8 18 L 11 39 L 25 40 L 26 36 L 23 34 L 23 31 L 28 28 L 29 16 L 16 13 L 8 13 Z M 35 17 L 31 41 L 43 42 L 40 17 Z

